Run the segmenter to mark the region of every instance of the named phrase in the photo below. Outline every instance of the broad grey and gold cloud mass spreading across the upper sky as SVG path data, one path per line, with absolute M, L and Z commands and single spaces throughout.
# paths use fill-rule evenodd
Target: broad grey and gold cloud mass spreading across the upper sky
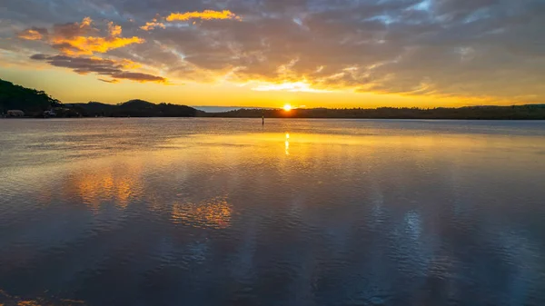
M 4 50 L 33 50 L 37 40 L 74 58 L 107 53 L 169 79 L 262 90 L 545 103 L 542 0 L 9 1 L 19 14 L 0 17 L 27 29 L 0 40 Z M 47 26 L 73 15 L 119 27 L 91 18 Z

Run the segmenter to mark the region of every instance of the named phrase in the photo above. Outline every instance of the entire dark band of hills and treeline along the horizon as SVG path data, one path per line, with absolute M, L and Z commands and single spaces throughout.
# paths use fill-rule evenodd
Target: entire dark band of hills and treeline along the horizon
M 224 113 L 205 113 L 190 106 L 153 104 L 131 100 L 122 104 L 62 104 L 43 91 L 25 88 L 0 79 L 0 114 L 21 110 L 27 117 L 44 117 L 53 111 L 56 117 L 227 117 L 227 118 L 347 118 L 347 119 L 476 119 L 545 120 L 545 104 L 516 106 L 468 106 L 460 108 L 377 109 L 240 109 Z

